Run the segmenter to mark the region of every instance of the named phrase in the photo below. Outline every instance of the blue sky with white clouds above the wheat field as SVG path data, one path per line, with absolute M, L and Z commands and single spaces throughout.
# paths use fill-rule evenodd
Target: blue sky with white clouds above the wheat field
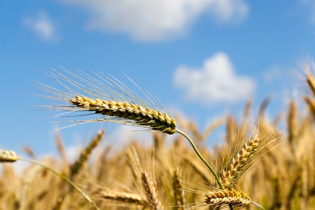
M 315 54 L 314 14 L 311 0 L 5 0 L 0 144 L 18 152 L 55 150 L 49 131 L 60 125 L 49 123 L 52 112 L 30 105 L 50 103 L 33 96 L 41 93 L 33 81 L 56 85 L 38 69 L 59 65 L 117 78 L 125 73 L 201 128 L 222 115 L 240 116 L 248 99 L 257 110 L 271 96 L 274 116 L 294 90 L 306 94 L 299 74 Z M 62 135 L 73 145 L 101 127 L 112 126 L 76 126 Z

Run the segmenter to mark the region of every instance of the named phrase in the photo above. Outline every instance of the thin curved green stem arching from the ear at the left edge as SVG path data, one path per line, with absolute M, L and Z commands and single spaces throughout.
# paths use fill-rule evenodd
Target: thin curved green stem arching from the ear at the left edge
M 63 179 L 64 181 L 68 182 L 74 189 L 76 189 L 78 192 L 80 192 L 92 205 L 96 210 L 101 210 L 97 204 L 89 197 L 89 195 L 87 195 L 80 187 L 78 187 L 76 184 L 74 184 L 70 179 L 68 179 L 67 177 L 63 176 L 62 174 L 56 172 L 55 170 L 53 170 L 52 168 L 44 165 L 41 162 L 35 161 L 35 160 L 31 160 L 31 159 L 26 159 L 26 158 L 22 158 L 20 157 L 20 160 L 22 161 L 26 161 L 26 162 L 30 162 L 30 163 L 34 163 L 37 164 L 41 167 L 43 167 L 44 169 L 47 169 L 48 171 L 54 173 L 55 175 L 59 176 L 61 179 Z

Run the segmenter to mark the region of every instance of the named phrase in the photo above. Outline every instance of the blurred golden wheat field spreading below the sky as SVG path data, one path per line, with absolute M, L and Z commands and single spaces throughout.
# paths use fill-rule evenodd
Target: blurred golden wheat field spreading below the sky
M 108 146 L 88 162 L 106 139 L 106 131 L 100 130 L 74 163 L 67 161 L 60 136 L 56 137 L 60 157 L 39 161 L 80 186 L 100 209 L 259 209 L 251 201 L 269 210 L 314 209 L 315 80 L 309 72 L 305 86 L 309 90 L 304 98 L 307 110 L 299 110 L 291 101 L 284 107 L 286 129 L 282 131 L 279 118 L 265 117 L 267 101 L 253 125 L 248 122 L 251 102 L 245 107 L 243 119 L 222 117 L 204 131 L 193 121 L 176 117 L 176 125 L 191 136 L 203 157 L 214 166 L 224 192 L 229 191 L 223 195 L 225 200 L 223 189 L 219 189 L 207 166 L 185 137 L 175 133 L 173 118 L 170 122 L 164 120 L 169 118 L 167 115 L 161 114 L 161 122 L 155 124 L 143 121 L 143 116 L 127 116 L 143 127 L 152 127 L 152 137 L 147 139 L 153 142 L 152 147 L 128 139 L 123 151 L 113 153 Z M 94 103 L 88 98 L 76 98 L 72 104 L 80 104 L 78 101 L 89 102 L 90 106 Z M 126 109 L 128 106 L 124 105 Z M 102 114 L 116 116 L 111 112 Z M 219 126 L 226 127 L 224 139 L 209 148 L 206 139 Z M 173 133 L 174 141 L 166 144 L 167 135 Z M 32 150 L 27 151 L 33 158 Z M 20 176 L 10 164 L 2 163 L 0 209 L 93 209 L 80 193 L 53 173 L 32 165 Z

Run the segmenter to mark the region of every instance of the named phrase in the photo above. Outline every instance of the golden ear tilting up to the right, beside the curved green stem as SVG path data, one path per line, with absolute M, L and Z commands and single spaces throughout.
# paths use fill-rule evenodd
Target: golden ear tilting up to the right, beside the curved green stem
M 220 178 L 225 186 L 232 187 L 238 181 L 257 153 L 259 143 L 258 135 L 253 135 L 222 170 Z

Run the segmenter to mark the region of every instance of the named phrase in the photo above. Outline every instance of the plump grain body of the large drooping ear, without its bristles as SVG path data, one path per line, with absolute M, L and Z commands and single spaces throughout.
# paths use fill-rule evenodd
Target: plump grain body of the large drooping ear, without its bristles
M 132 120 L 140 126 L 150 127 L 153 130 L 168 134 L 176 132 L 176 121 L 170 115 L 142 105 L 135 105 L 127 101 L 93 100 L 84 96 L 75 96 L 75 99 L 71 99 L 70 102 L 78 108 L 105 116 Z

